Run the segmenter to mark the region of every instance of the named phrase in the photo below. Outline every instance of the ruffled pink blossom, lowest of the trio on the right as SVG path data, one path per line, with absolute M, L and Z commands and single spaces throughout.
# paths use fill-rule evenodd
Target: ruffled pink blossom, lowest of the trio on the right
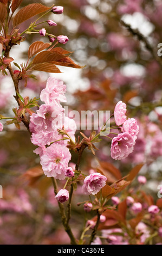
M 133 151 L 134 139 L 129 133 L 119 133 L 112 139 L 111 157 L 115 160 L 121 160 L 127 157 Z

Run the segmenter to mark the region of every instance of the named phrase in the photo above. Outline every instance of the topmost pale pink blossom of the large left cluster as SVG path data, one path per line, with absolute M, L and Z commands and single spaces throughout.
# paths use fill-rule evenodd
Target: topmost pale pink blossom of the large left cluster
M 46 88 L 40 94 L 40 99 L 46 104 L 60 105 L 60 101 L 66 102 L 65 93 L 66 85 L 55 77 L 49 77 Z

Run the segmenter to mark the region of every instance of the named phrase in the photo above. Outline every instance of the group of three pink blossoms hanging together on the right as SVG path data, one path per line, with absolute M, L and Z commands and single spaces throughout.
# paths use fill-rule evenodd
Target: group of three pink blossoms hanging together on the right
M 121 133 L 112 139 L 111 157 L 115 160 L 125 159 L 132 153 L 139 126 L 137 120 L 126 117 L 126 104 L 119 101 L 114 109 L 115 123 L 120 127 Z

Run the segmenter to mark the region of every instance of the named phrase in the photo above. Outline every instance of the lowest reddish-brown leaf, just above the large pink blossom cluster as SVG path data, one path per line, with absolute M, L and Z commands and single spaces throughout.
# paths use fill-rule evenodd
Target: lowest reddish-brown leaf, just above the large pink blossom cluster
M 30 70 L 38 70 L 49 73 L 61 73 L 60 69 L 58 69 L 53 63 L 49 62 L 35 64 L 31 66 Z

